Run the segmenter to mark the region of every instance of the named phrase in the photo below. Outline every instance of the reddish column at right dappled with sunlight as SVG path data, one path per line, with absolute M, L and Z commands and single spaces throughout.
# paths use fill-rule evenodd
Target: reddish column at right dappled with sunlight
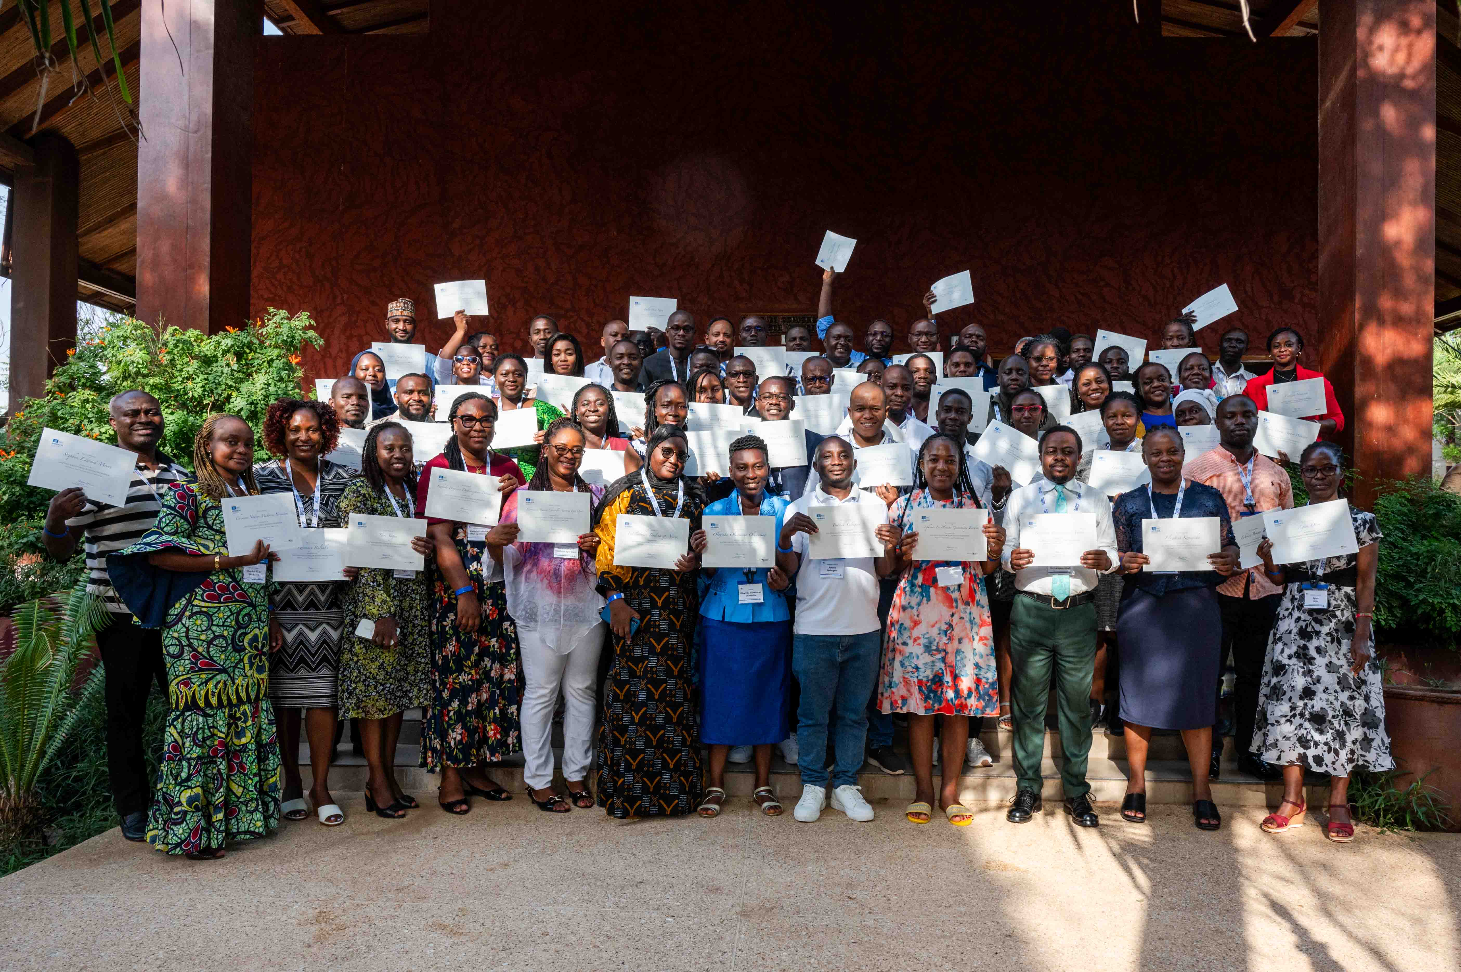
M 1319 333 L 1369 506 L 1430 472 L 1435 0 L 1321 0 Z M 1294 456 L 1297 459 L 1297 456 Z

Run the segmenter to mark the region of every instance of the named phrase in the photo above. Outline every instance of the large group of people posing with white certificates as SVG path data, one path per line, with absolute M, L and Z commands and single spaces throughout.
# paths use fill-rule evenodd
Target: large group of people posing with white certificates
M 796 820 L 817 820 L 828 804 L 871 820 L 858 785 L 866 764 L 912 770 L 909 821 L 944 816 L 967 826 L 960 769 L 989 764 L 982 731 L 1008 731 L 1017 789 L 1007 819 L 1024 823 L 1042 810 L 1052 690 L 1064 811 L 1077 826 L 1099 823 L 1086 769 L 1093 726 L 1105 725 L 1125 734 L 1124 820 L 1145 821 L 1153 732 L 1179 731 L 1194 824 L 1216 830 L 1210 779 L 1220 772 L 1214 728 L 1230 656 L 1239 763 L 1284 781 L 1284 801 L 1264 829 L 1303 821 L 1311 770 L 1331 779 L 1327 836 L 1353 839 L 1350 772 L 1392 766 L 1372 658 L 1375 519 L 1353 513 L 1357 555 L 1302 569 L 1275 566 L 1267 541 L 1262 563 L 1243 569 L 1232 534 L 1239 517 L 1293 504 L 1287 471 L 1252 440 L 1267 387 L 1322 377 L 1299 365 L 1302 338 L 1271 335 L 1273 370 L 1255 376 L 1243 367 L 1248 336 L 1232 329 L 1217 362 L 1194 349 L 1173 380 L 1154 362 L 1128 373 L 1121 348 L 1091 360 L 1088 336 L 1059 330 L 1021 339 L 993 361 L 983 329 L 969 324 L 947 335 L 945 351 L 945 332 L 926 310 L 909 329 L 913 354 L 896 362 L 885 320 L 868 324 L 862 349 L 853 348 L 853 329 L 831 311 L 836 279 L 824 275 L 815 326 L 785 335 L 789 351 L 821 345 L 795 374 L 760 376 L 751 357 L 735 354 L 767 343 L 770 327 L 754 316 L 713 319 L 698 343 L 684 310 L 657 333 L 609 322 L 602 357 L 590 362 L 551 317 L 529 322 L 530 354 L 519 355 L 500 351 L 492 335 L 469 336 L 459 313 L 453 336 L 419 373 L 389 379 L 381 357 L 365 351 L 329 400 L 272 405 L 267 457 L 256 455 L 241 418 L 207 417 L 191 472 L 158 450 L 162 405 L 143 392 L 115 396 L 117 443 L 137 453 L 127 501 L 64 490 L 44 539 L 56 557 L 85 544 L 89 586 L 111 612 L 98 643 L 123 835 L 212 859 L 281 817 L 304 820 L 313 810 L 321 824 L 342 823 L 329 789 L 339 719 L 358 726 L 367 810 L 405 817 L 419 804 L 393 767 L 403 713 L 416 707 L 421 766 L 440 773 L 437 801 L 451 814 L 469 813 L 473 797 L 510 800 L 489 769 L 520 751 L 527 795 L 546 813 L 598 805 L 618 819 L 716 817 L 728 800 L 726 764 L 736 760 L 754 762 L 752 800 L 779 816 L 770 767 L 782 747 L 801 773 Z M 411 301 L 390 303 L 386 329 L 392 341 L 413 342 Z M 1166 326 L 1163 346 L 1195 343 L 1189 317 Z M 564 409 L 535 398 L 536 374 L 589 381 Z M 970 428 L 983 422 L 973 421 L 974 396 L 948 387 L 932 405 L 941 377 L 982 379 L 988 418 L 1036 440 L 1039 471 L 1023 474 L 1029 481 L 976 457 Z M 849 379 L 850 389 L 839 387 Z M 438 383 L 481 392 L 434 415 Z M 1040 390 L 1050 386 L 1064 386 L 1053 395 L 1069 415 L 1099 412 L 1099 424 L 1083 436 L 1059 421 L 1052 392 Z M 687 475 L 693 403 L 736 405 L 774 422 L 834 389 L 846 393 L 846 415 L 831 434 L 805 433 L 805 465 L 773 465 L 752 424 L 725 455 L 695 456 L 700 472 Z M 1311 503 L 1337 498 L 1344 479 L 1328 440 L 1344 419 L 1325 389 L 1328 412 L 1313 417 L 1322 436 L 1297 456 Z M 643 415 L 621 421 L 624 395 L 641 396 Z M 501 414 L 524 408 L 536 411 L 533 444 L 494 449 Z M 446 422 L 446 447 L 424 455 L 402 419 Z M 1180 428 L 1205 424 L 1220 444 L 1189 455 Z M 343 428 L 365 433 L 358 468 L 327 457 L 339 457 Z M 862 485 L 859 453 L 890 443 L 907 449 L 912 485 Z M 1150 485 L 1121 496 L 1091 487 L 1102 449 L 1140 452 Z M 619 453 L 622 475 L 586 479 L 595 450 Z M 425 517 L 434 469 L 495 476 L 497 523 Z M 519 538 L 519 503 L 542 491 L 587 494 L 590 526 L 576 544 Z M 222 516 L 229 497 L 262 493 L 292 496 L 304 529 L 348 528 L 355 515 L 425 517 L 425 536 L 412 542 L 425 569 L 275 580 L 279 554 L 263 542 L 231 554 Z M 820 513 L 849 504 L 877 555 L 818 557 Z M 982 558 L 919 557 L 920 517 L 947 509 L 986 512 Z M 1067 512 L 1094 517 L 1096 545 L 1077 567 L 1036 564 L 1021 535 L 1033 516 Z M 774 564 L 703 566 L 707 516 L 774 517 Z M 1144 570 L 1143 522 L 1183 516 L 1221 523 L 1210 570 Z M 625 517 L 685 519 L 688 545 L 672 567 L 624 566 L 615 551 Z M 1322 604 L 1316 586 L 1327 591 Z M 140 721 L 153 680 L 168 691 L 169 713 L 149 797 Z M 1112 681 L 1119 688 L 1109 691 Z M 552 745 L 560 702 L 561 788 Z M 894 745 L 900 725 L 906 756 Z M 301 732 L 311 754 L 307 794 L 291 759 Z

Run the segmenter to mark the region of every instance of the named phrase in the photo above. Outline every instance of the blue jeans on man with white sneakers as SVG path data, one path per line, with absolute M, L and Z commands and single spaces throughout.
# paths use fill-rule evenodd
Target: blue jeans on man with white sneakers
M 796 745 L 802 783 L 827 786 L 828 716 L 836 707 L 833 745 L 837 764 L 831 786 L 855 786 L 868 738 L 868 697 L 878 680 L 882 633 L 798 634 L 792 639 L 792 671 L 802 687 L 796 706 Z

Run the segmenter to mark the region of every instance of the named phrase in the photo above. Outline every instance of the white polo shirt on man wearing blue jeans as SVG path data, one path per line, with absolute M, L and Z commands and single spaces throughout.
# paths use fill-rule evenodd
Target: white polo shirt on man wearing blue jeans
M 827 496 L 821 487 L 808 487 L 802 498 L 792 503 L 783 523 L 814 506 L 844 506 L 856 503 L 871 534 L 888 522 L 888 507 L 877 496 L 853 490 L 846 500 Z M 1107 519 L 1109 515 L 1107 515 Z M 780 542 L 780 539 L 777 539 Z M 806 534 L 792 536 L 792 550 L 801 558 L 796 570 L 795 634 L 868 634 L 881 631 L 878 620 L 878 570 L 872 557 L 842 558 L 842 577 L 824 577 L 820 560 L 806 557 Z

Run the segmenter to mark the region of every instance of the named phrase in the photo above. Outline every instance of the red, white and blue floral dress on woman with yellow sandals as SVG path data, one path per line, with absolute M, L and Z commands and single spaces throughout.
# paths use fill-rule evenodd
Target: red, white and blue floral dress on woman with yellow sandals
M 899 497 L 888 519 L 912 529 L 912 510 L 977 509 L 972 496 L 935 500 L 928 490 Z M 939 567 L 958 567 L 957 588 L 938 583 Z M 915 560 L 903 569 L 878 672 L 878 707 L 915 715 L 998 715 L 993 627 L 979 564 Z

